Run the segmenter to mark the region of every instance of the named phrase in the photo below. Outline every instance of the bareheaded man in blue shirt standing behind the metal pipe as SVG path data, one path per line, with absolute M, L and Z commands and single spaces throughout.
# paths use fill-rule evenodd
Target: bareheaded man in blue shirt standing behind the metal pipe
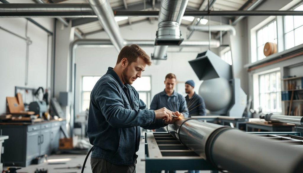
M 159 108 L 166 107 L 171 111 L 182 112 L 185 117 L 188 117 L 185 98 L 174 90 L 176 85 L 176 75 L 168 73 L 165 76 L 164 84 L 164 91 L 154 96 L 151 101 L 150 109 L 157 110 Z M 161 129 L 157 131 L 161 131 Z M 176 171 L 169 171 L 169 173 L 175 172 Z M 165 173 L 167 173 L 167 171 L 165 171 Z

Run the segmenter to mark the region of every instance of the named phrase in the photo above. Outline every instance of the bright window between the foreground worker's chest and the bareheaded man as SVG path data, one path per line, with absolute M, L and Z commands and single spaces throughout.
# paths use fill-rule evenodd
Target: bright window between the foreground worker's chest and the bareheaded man
M 151 76 L 137 78 L 132 86 L 139 94 L 139 98 L 149 107 L 151 100 Z

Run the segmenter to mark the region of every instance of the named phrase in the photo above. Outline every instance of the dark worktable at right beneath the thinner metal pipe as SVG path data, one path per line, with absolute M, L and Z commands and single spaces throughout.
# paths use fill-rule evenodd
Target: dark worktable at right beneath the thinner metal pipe
M 261 129 L 267 131 L 292 131 L 294 124 L 288 123 L 268 123 L 266 121 L 246 122 L 246 131 Z

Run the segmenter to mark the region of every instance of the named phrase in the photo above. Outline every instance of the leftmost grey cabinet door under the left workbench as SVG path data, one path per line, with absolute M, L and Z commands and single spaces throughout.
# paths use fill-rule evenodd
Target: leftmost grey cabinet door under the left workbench
M 40 131 L 27 132 L 26 160 L 40 154 Z

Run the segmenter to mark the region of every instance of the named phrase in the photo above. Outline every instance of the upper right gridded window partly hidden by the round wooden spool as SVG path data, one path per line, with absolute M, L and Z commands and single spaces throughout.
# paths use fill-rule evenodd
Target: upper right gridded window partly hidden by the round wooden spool
M 257 60 L 265 58 L 263 49 L 267 42 L 277 44 L 277 22 L 272 21 L 257 31 Z

